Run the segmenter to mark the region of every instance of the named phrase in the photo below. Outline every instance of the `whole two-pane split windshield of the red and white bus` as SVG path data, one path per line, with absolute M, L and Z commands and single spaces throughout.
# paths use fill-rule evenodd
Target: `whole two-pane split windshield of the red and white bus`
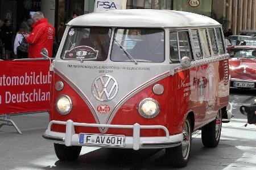
M 111 28 L 71 27 L 61 52 L 62 59 L 105 61 L 108 58 Z M 118 62 L 163 62 L 164 29 L 117 28 L 110 59 Z

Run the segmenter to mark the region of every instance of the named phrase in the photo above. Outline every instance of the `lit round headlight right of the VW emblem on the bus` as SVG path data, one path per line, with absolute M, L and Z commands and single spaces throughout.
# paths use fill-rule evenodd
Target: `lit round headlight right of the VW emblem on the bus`
M 160 111 L 159 104 L 155 99 L 147 98 L 139 103 L 138 111 L 144 118 L 153 118 Z

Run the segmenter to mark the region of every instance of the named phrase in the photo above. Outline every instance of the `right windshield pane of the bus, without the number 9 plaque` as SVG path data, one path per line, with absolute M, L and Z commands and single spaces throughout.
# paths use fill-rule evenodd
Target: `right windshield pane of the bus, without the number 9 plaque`
M 115 29 L 112 61 L 163 62 L 163 29 Z

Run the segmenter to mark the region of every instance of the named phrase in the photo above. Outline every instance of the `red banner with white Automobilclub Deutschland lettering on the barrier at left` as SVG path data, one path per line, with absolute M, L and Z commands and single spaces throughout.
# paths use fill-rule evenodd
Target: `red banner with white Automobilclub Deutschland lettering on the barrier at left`
M 49 60 L 0 61 L 0 114 L 48 111 Z

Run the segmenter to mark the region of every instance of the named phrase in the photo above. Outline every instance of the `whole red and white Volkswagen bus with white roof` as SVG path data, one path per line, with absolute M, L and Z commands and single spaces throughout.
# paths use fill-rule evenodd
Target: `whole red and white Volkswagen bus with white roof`
M 60 160 L 82 146 L 166 148 L 184 167 L 191 134 L 216 147 L 229 101 L 221 25 L 168 10 L 114 10 L 68 23 L 53 63 L 43 134 Z

